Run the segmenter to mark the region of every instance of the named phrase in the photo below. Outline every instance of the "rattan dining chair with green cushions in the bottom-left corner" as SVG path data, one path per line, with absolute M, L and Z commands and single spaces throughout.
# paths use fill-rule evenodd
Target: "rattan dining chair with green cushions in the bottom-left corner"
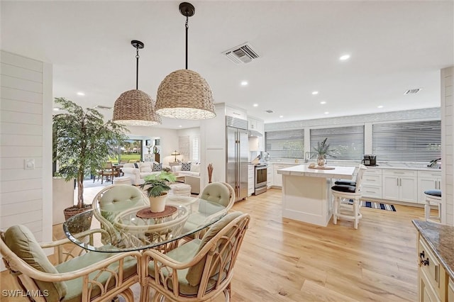
M 77 237 L 88 236 L 92 241 L 94 233 L 90 230 Z M 68 243 L 74 247 L 69 252 Z M 43 251 L 49 247 L 57 249 L 56 265 Z M 24 225 L 0 231 L 0 252 L 18 286 L 33 293 L 30 301 L 105 302 L 120 295 L 133 302 L 130 286 L 139 281 L 139 252 L 85 252 L 69 239 L 40 245 Z

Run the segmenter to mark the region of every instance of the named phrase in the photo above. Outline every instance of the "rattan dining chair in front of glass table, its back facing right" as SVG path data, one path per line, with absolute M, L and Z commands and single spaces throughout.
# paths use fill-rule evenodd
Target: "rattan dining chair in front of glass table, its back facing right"
M 233 268 L 250 216 L 230 213 L 211 225 L 201 239 L 166 254 L 147 250 L 142 256 L 140 301 L 212 301 L 224 293 L 230 301 Z

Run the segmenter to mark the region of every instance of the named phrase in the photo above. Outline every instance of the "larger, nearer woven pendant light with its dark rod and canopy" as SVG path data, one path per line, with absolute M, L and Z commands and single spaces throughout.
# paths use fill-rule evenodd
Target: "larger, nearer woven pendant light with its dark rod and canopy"
M 192 4 L 179 4 L 179 11 L 186 16 L 186 69 L 167 75 L 157 89 L 156 113 L 167 118 L 203 120 L 214 118 L 213 95 L 206 80 L 200 74 L 187 69 L 188 18 L 194 16 Z

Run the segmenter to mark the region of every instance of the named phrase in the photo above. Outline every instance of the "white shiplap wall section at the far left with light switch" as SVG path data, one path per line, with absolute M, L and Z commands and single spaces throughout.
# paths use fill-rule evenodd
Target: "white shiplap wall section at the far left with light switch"
M 51 241 L 52 65 L 4 51 L 0 62 L 0 228 L 23 224 Z

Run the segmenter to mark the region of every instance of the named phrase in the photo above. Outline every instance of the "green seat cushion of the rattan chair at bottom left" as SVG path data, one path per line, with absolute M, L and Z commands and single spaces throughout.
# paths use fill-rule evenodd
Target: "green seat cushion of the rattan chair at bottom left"
M 115 253 L 108 253 L 108 252 L 88 252 L 85 255 L 76 257 L 71 259 L 67 262 L 63 262 L 62 264 L 57 265 L 56 269 L 60 273 L 65 272 L 72 272 L 77 269 L 82 269 L 84 267 L 88 267 L 97 262 L 102 262 L 105 259 L 116 255 Z M 114 262 L 109 265 L 109 269 L 112 269 L 114 272 L 118 272 L 118 262 Z M 123 262 L 123 279 L 128 279 L 129 276 L 132 276 L 137 272 L 137 262 L 135 257 L 126 257 Z M 93 279 L 99 271 L 93 272 L 89 274 L 89 278 Z M 108 272 L 103 272 L 101 276 L 99 276 L 96 280 L 101 282 L 101 284 L 106 284 L 106 281 L 109 279 Z M 111 285 L 109 285 L 109 289 L 114 286 L 114 278 L 110 281 Z M 67 285 L 67 294 L 62 301 L 65 302 L 77 302 L 81 301 L 82 298 L 82 277 L 77 279 L 72 279 L 66 281 Z M 89 284 L 90 286 L 90 284 Z M 101 293 L 99 286 L 94 286 L 92 289 L 92 297 L 98 296 Z

